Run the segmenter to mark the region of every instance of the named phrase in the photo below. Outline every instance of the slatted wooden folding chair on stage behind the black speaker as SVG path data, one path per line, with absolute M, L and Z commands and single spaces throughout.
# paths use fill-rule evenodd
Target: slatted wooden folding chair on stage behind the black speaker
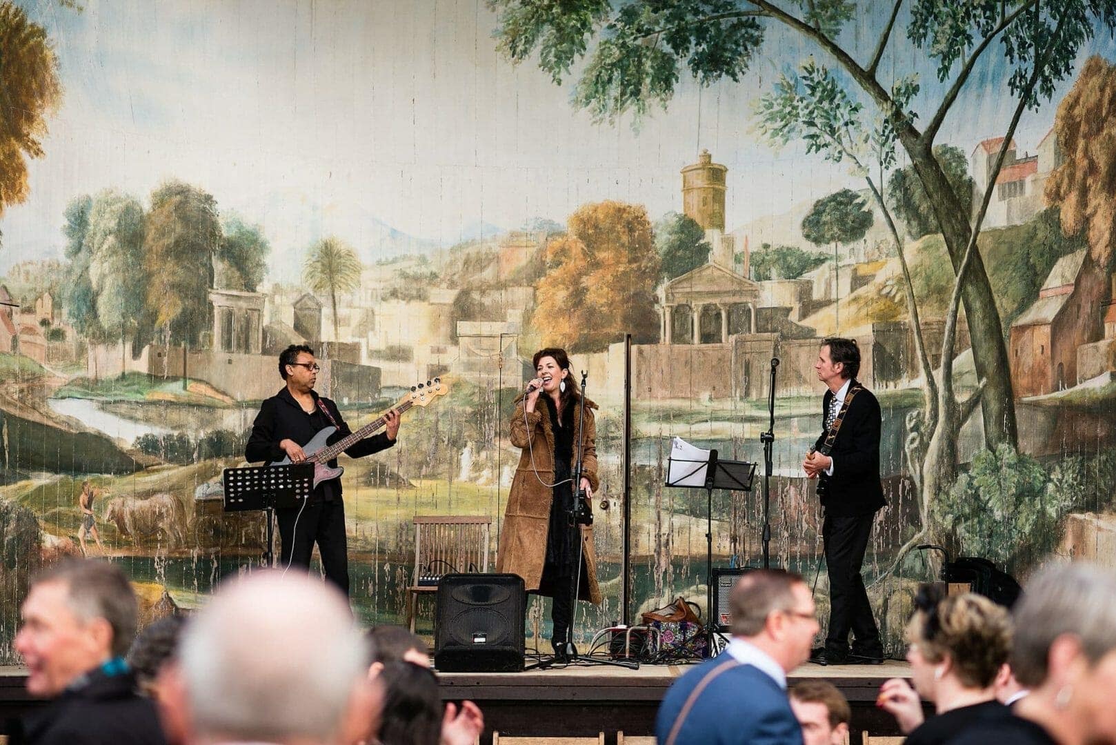
M 414 518 L 415 569 L 407 588 L 407 628 L 414 633 L 419 596 L 437 591 L 436 584 L 419 584 L 424 573 L 436 576 L 458 572 L 488 572 L 489 531 L 492 518 L 483 515 L 433 515 Z

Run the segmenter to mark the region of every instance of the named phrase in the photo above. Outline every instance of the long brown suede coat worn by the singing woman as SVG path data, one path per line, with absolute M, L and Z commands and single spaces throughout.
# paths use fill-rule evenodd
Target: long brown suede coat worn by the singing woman
M 585 400 L 585 450 L 583 476 L 596 491 L 597 480 L 597 426 L 593 410 L 597 408 Z M 577 434 L 581 408 L 574 410 L 574 457 L 577 457 Z M 519 457 L 516 477 L 508 495 L 503 528 L 500 531 L 500 548 L 497 553 L 496 571 L 510 572 L 523 577 L 528 590 L 538 590 L 542 579 L 542 564 L 547 555 L 547 531 L 550 525 L 550 503 L 554 500 L 555 433 L 550 412 L 546 403 L 538 402 L 523 420 L 523 397 L 516 402 L 516 413 L 511 417 L 511 443 L 523 451 Z M 535 456 L 532 467 L 531 456 Z M 536 471 L 538 478 L 536 478 Z M 539 483 L 542 479 L 542 483 Z M 593 526 L 581 526 L 581 545 L 589 582 L 581 584 L 579 600 L 599 603 L 600 588 L 597 585 L 597 555 L 593 550 Z

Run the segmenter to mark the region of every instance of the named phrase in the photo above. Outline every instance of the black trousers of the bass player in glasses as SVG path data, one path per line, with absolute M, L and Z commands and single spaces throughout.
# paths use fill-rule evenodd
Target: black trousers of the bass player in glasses
M 318 544 L 326 580 L 348 596 L 348 543 L 345 536 L 345 503 L 340 498 L 311 499 L 299 515 L 298 507 L 276 510 L 279 523 L 279 566 L 310 566 L 314 544 Z M 296 526 L 296 520 L 298 525 Z

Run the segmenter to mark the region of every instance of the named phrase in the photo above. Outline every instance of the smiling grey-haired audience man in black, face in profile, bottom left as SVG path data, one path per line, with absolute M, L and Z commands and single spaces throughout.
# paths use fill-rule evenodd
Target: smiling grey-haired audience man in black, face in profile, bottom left
M 105 561 L 60 562 L 32 580 L 20 610 L 15 647 L 27 665 L 27 690 L 55 700 L 25 720 L 18 742 L 165 742 L 154 705 L 124 661 L 137 615 L 124 572 Z

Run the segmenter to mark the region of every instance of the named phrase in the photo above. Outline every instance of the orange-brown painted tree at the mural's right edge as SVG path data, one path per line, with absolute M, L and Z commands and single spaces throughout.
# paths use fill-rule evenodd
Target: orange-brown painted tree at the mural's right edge
M 1085 233 L 1103 270 L 1116 243 L 1116 66 L 1090 57 L 1058 106 L 1055 134 L 1062 162 L 1047 180 L 1046 198 L 1057 204 L 1067 236 Z

